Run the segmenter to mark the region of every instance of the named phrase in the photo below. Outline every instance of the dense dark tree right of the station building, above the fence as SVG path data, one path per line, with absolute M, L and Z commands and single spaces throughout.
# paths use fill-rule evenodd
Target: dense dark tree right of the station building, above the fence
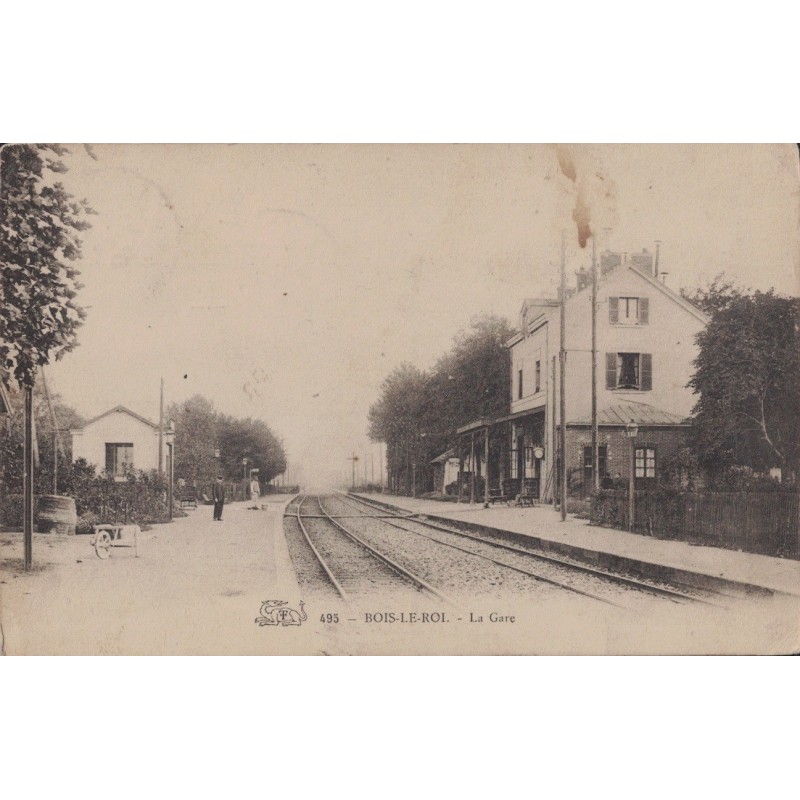
M 772 290 L 728 292 L 709 306 L 697 336 L 689 381 L 695 448 L 714 474 L 732 466 L 780 467 L 793 480 L 800 468 L 800 300 Z

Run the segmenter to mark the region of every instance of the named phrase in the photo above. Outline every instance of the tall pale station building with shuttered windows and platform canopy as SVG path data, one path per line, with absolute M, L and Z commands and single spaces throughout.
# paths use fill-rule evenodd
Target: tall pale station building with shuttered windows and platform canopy
M 566 459 L 570 495 L 591 492 L 591 273 L 576 275 L 568 290 L 566 329 Z M 557 299 L 529 298 L 511 351 L 508 414 L 479 419 L 458 430 L 462 483 L 483 497 L 490 489 L 535 499 L 560 496 L 558 483 L 559 349 L 561 306 Z M 697 356 L 695 336 L 708 318 L 659 280 L 657 261 L 646 250 L 630 258 L 604 252 L 597 286 L 597 422 L 600 478 L 624 481 L 630 474 L 633 440 L 637 488 L 655 484 L 661 469 L 687 442 L 695 397 L 687 383 Z M 473 480 L 475 478 L 475 480 Z

